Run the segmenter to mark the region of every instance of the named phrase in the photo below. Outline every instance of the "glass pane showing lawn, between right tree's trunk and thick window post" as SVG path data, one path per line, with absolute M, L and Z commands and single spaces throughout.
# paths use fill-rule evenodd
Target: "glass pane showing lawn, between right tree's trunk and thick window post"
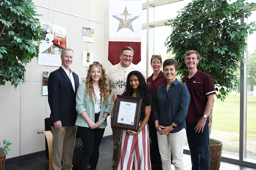
M 224 102 L 215 97 L 210 138 L 223 143 L 222 153 L 239 156 L 239 124 L 240 91 L 229 93 Z

